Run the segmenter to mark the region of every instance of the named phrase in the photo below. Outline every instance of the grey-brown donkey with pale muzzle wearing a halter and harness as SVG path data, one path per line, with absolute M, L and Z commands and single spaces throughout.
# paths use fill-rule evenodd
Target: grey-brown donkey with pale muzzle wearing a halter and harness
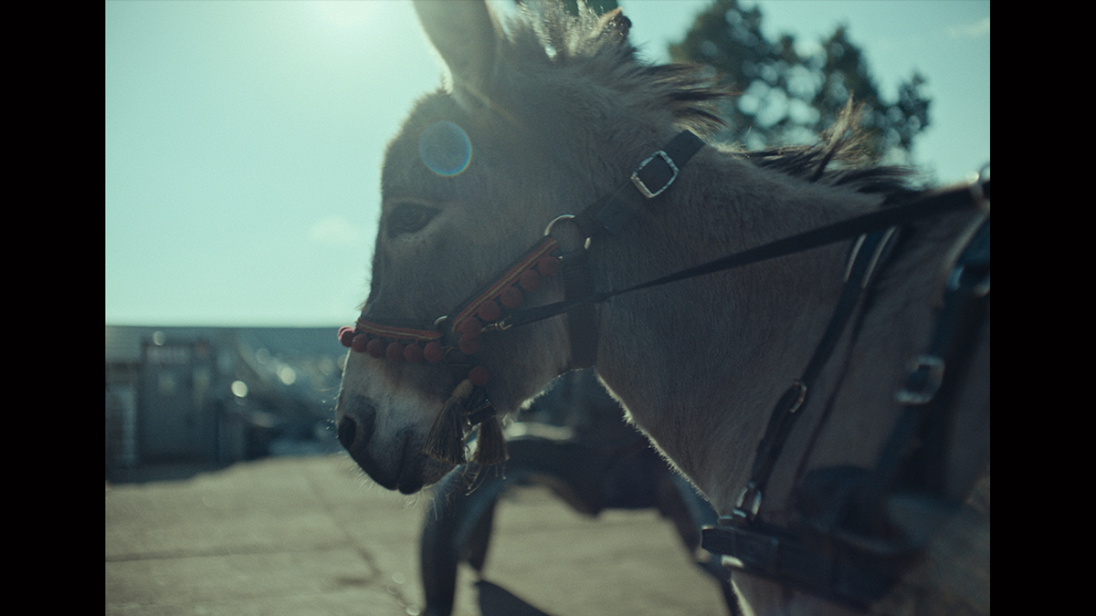
M 638 59 L 619 10 L 598 18 L 580 3 L 574 18 L 523 5 L 503 20 L 480 1 L 415 9 L 448 79 L 388 145 L 369 295 L 358 322 L 340 331 L 353 351 L 339 438 L 365 472 L 416 492 L 465 461 L 472 424 L 477 454 L 494 449 L 499 417 L 589 366 L 627 421 L 728 520 L 745 509 L 795 525 L 806 500 L 797 486 L 812 471 L 876 466 L 906 409 L 895 391 L 907 384 L 907 362 L 936 335 L 948 272 L 975 225 L 987 230 L 987 207 L 895 225 L 871 252 L 847 327 L 832 335 L 852 239 L 604 294 L 921 191 L 901 170 L 859 162 L 852 109 L 813 146 L 746 152 L 689 138 L 720 127 L 716 104 L 727 93 L 694 68 Z M 655 166 L 666 176 L 633 175 Z M 592 204 L 596 216 L 571 216 Z M 603 295 L 567 305 L 574 287 Z M 559 303 L 566 313 L 505 321 L 509 311 Z M 938 452 L 939 492 L 952 503 L 980 479 L 987 486 L 987 299 L 985 313 L 968 336 Z M 827 335 L 830 352 L 812 362 Z M 743 487 L 756 478 L 757 444 L 773 441 L 774 406 L 809 364 L 817 374 L 785 409 L 797 419 L 750 511 Z M 439 436 L 441 424 L 450 434 Z M 457 446 L 438 448 L 439 438 Z M 814 493 L 826 502 L 835 490 L 823 482 Z M 987 525 L 985 513 L 985 571 L 961 573 L 975 580 L 974 594 L 989 588 Z M 905 596 L 940 584 L 926 567 L 905 575 Z M 894 592 L 874 604 L 838 601 L 749 568 L 734 584 L 757 614 L 858 613 L 895 601 Z

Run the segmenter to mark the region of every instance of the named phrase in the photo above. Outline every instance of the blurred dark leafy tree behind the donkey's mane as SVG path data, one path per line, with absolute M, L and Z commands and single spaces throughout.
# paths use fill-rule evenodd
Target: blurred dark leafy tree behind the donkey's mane
M 923 76 L 914 72 L 899 85 L 898 99 L 887 100 L 845 26 L 801 55 L 790 34 L 768 41 L 761 24 L 760 8 L 715 0 L 685 38 L 670 45 L 674 61 L 710 67 L 712 77 L 738 94 L 723 109 L 730 124 L 724 138 L 751 149 L 809 142 L 852 96 L 864 105 L 865 153 L 910 162 L 914 138 L 928 126 Z

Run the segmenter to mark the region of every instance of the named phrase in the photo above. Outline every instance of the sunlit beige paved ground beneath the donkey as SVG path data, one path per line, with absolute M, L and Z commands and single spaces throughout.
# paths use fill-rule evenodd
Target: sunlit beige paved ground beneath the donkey
M 374 486 L 345 456 L 267 458 L 106 487 L 106 614 L 416 615 L 426 495 Z M 550 492 L 500 503 L 458 616 L 720 615 L 715 582 L 654 511 L 592 518 Z

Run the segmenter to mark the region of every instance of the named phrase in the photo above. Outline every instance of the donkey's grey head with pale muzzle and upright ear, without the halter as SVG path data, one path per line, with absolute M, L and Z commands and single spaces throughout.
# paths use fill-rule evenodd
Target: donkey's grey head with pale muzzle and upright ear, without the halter
M 388 146 L 362 318 L 429 327 L 459 310 L 461 299 L 533 246 L 555 216 L 596 194 L 597 163 L 576 155 L 594 151 L 589 144 L 596 137 L 582 125 L 591 119 L 574 117 L 592 110 L 569 113 L 575 101 L 561 100 L 567 89 L 552 87 L 552 78 L 563 76 L 551 66 L 551 49 L 526 45 L 522 53 L 538 57 L 515 57 L 521 47 L 507 38 L 513 34 L 481 2 L 418 2 L 415 9 L 450 80 L 416 103 Z M 623 42 L 626 26 L 617 18 L 593 32 Z M 525 301 L 561 298 L 559 281 L 546 278 Z M 490 375 L 486 393 L 502 413 L 517 410 L 569 361 L 559 318 L 492 331 L 477 346 L 476 363 Z M 351 352 L 336 409 L 341 443 L 385 488 L 412 493 L 437 481 L 453 465 L 423 448 L 463 378 L 444 362 L 403 361 L 398 350 Z

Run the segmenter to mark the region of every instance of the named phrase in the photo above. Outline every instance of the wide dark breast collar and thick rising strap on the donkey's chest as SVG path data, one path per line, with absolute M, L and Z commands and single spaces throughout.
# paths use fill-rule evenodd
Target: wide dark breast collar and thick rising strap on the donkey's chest
M 987 199 L 987 182 L 985 189 L 982 196 Z M 928 350 L 911 366 L 905 387 L 895 395 L 904 409 L 875 468 L 818 469 L 797 488 L 801 525 L 780 527 L 738 515 L 737 510 L 737 515 L 720 518 L 721 527 L 703 531 L 701 547 L 723 555 L 726 564 L 831 600 L 867 607 L 882 597 L 924 548 L 935 525 L 958 506 L 943 493 L 950 397 L 971 360 L 980 326 L 989 318 L 989 290 L 985 214 L 950 270 Z M 743 494 L 749 490 L 747 486 Z M 903 526 L 888 515 L 892 497 L 907 490 L 937 505 L 932 520 Z M 746 500 L 739 509 L 752 504 Z

